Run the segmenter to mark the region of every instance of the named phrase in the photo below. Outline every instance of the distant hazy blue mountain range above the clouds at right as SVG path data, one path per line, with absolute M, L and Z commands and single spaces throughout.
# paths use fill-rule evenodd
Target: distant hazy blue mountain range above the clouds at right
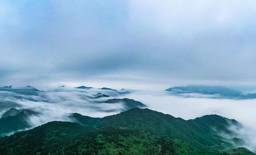
M 256 98 L 256 93 L 244 93 L 239 90 L 233 90 L 223 86 L 203 86 L 203 85 L 190 85 L 168 88 L 165 91 L 170 92 L 172 95 L 193 97 L 194 94 L 202 94 L 207 98 L 229 98 L 229 99 L 253 99 Z M 197 96 L 198 97 L 198 96 Z

